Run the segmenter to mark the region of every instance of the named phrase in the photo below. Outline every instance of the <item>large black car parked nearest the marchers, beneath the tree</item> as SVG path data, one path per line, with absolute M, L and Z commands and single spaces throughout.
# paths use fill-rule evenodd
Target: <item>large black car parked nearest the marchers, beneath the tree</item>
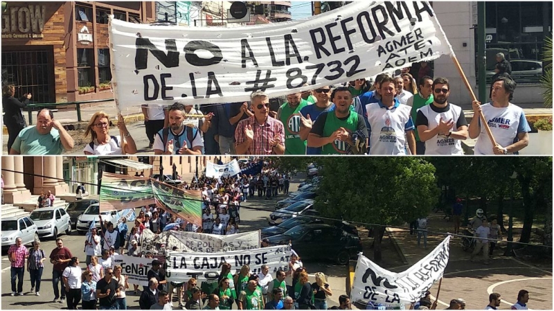
M 291 241 L 292 249 L 301 258 L 326 258 L 339 265 L 346 265 L 350 258 L 357 258 L 363 251 L 357 235 L 328 224 L 301 224 L 268 240 L 271 245 L 287 245 Z

